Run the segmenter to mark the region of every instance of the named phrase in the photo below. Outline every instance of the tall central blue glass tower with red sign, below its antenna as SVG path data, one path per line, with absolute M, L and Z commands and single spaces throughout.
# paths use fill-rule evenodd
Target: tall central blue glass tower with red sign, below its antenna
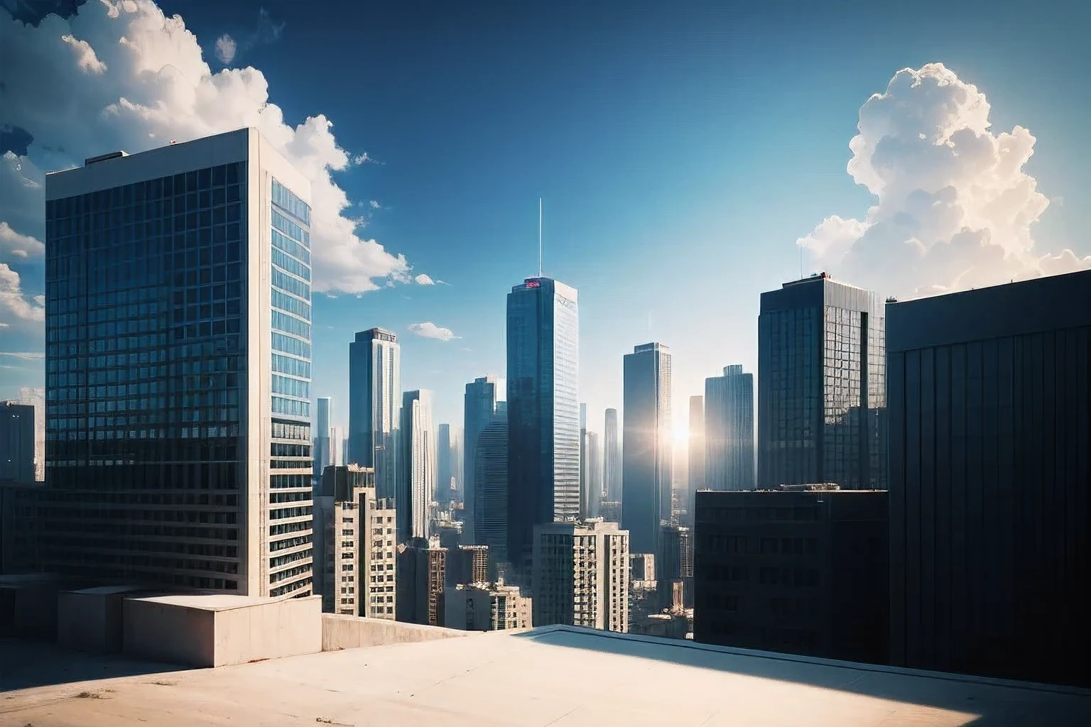
M 507 294 L 507 557 L 526 572 L 536 524 L 579 516 L 579 305 L 527 278 Z

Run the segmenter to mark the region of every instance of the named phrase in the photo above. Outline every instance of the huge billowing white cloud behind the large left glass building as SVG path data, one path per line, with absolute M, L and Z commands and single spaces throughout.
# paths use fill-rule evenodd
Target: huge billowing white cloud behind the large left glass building
M 263 17 L 264 37 L 276 37 L 283 25 Z M 69 47 L 75 46 L 64 36 L 86 44 L 101 72 L 88 73 L 83 46 L 73 56 Z M 166 17 L 151 0 L 87 2 L 71 20 L 49 15 L 37 27 L 0 11 L 0 37 L 7 99 L 0 125 L 34 137 L 26 157 L 8 154 L 0 163 L 0 221 L 20 234 L 45 237 L 40 168 L 62 169 L 115 149 L 135 153 L 168 138 L 183 142 L 257 126 L 311 181 L 315 290 L 356 293 L 411 280 L 403 255 L 359 237 L 356 222 L 344 216 L 350 202 L 331 173 L 350 159 L 331 122 L 316 114 L 287 124 L 256 69 L 213 73 L 180 16 Z

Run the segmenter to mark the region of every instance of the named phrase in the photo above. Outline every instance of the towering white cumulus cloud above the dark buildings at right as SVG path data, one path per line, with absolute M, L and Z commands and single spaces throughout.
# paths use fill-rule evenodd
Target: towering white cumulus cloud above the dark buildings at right
M 877 202 L 863 220 L 827 217 L 799 244 L 847 281 L 898 295 L 960 290 L 1091 267 L 1042 253 L 1050 205 L 1023 166 L 1034 137 L 990 131 L 990 106 L 942 63 L 895 74 L 860 109 L 848 172 Z

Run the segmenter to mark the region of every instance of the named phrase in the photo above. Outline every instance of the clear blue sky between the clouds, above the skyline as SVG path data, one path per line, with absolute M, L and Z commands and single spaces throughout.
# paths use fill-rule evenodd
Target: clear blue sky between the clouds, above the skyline
M 460 424 L 465 383 L 504 371 L 539 196 L 546 272 L 579 290 L 592 428 L 621 405 L 622 355 L 650 340 L 674 352 L 683 420 L 704 377 L 756 368 L 758 295 L 798 277 L 796 240 L 874 203 L 846 171 L 849 140 L 902 68 L 942 62 L 987 97 L 994 131 L 1029 129 L 1023 171 L 1052 203 L 1035 250 L 1091 254 L 1091 11 L 1076 3 L 159 4 L 214 72 L 229 33 L 287 123 L 324 113 L 367 150 L 377 163 L 334 175 L 360 214 L 380 204 L 362 234 L 449 283 L 315 295 L 313 390 L 338 423 L 348 342 L 382 326 L 403 341 L 404 387 L 433 389 L 435 421 Z M 283 28 L 259 37 L 260 8 Z M 805 272 L 818 265 L 808 253 Z M 422 322 L 459 338 L 407 330 Z M 29 377 L 0 369 L 0 393 Z

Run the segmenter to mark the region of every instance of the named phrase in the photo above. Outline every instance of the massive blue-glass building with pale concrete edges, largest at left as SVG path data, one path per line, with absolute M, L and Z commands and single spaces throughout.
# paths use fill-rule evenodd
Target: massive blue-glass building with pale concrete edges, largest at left
M 256 129 L 47 174 L 45 569 L 311 593 L 309 196 Z

